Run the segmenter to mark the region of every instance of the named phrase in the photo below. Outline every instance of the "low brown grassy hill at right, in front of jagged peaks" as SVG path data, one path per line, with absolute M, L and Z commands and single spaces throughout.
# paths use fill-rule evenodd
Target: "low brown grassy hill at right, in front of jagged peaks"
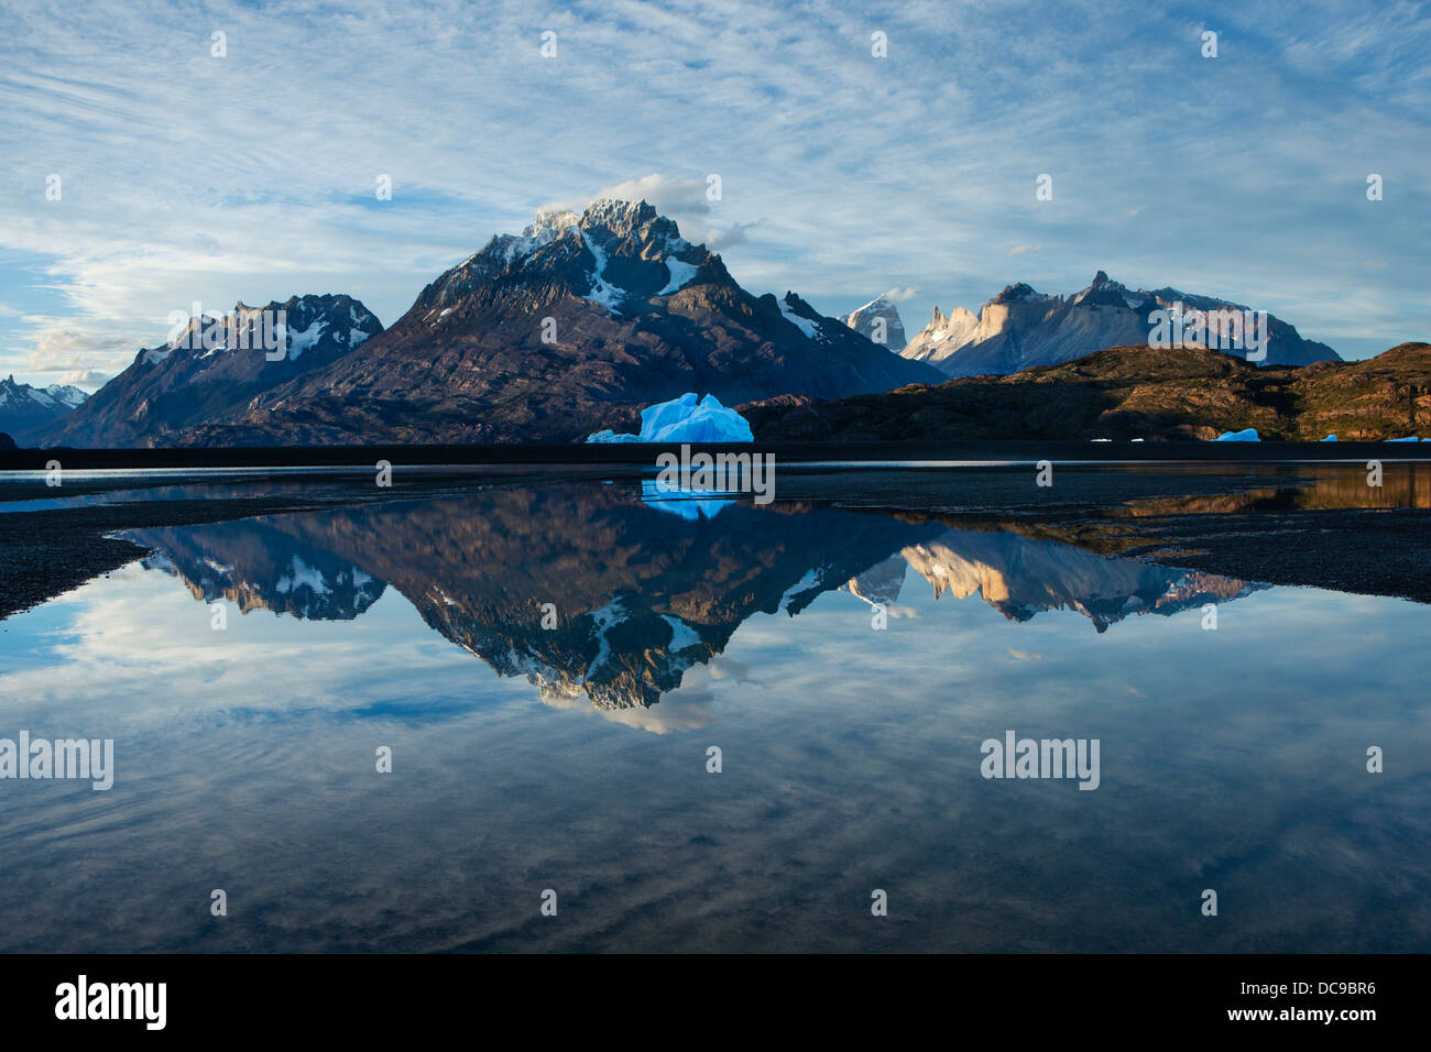
M 1359 362 L 1254 368 L 1205 348 L 1116 346 L 1012 376 L 839 401 L 740 406 L 757 441 L 1208 439 L 1256 428 L 1312 442 L 1431 437 L 1431 345 Z

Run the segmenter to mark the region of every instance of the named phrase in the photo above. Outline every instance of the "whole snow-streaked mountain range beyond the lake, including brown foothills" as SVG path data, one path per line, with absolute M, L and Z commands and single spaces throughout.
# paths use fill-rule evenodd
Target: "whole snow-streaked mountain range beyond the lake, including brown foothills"
M 1271 315 L 1259 371 L 1241 364 L 1245 349 L 1145 346 L 1155 312 L 1246 309 L 1128 289 L 1099 271 L 1069 298 L 1017 283 L 977 313 L 934 308 L 906 344 L 889 295 L 839 319 L 794 292 L 754 296 L 648 203 L 597 200 L 494 236 L 388 329 L 351 296 L 236 303 L 220 342 L 205 339 L 215 319 L 192 319 L 89 399 L 11 378 L 0 385 L 0 432 L 49 447 L 570 442 L 637 431 L 643 408 L 688 391 L 748 408 L 757 438 L 1397 429 L 1388 406 L 1404 395 L 1378 395 L 1378 408 L 1321 374 L 1304 384 L 1285 372 L 1341 359 Z M 286 316 L 276 354 L 242 338 L 276 312 Z M 1110 348 L 1118 354 L 1105 355 Z M 1420 368 L 1415 354 L 1382 358 L 1375 368 Z M 972 376 L 1013 379 L 933 386 Z M 1308 412 L 1296 401 L 1304 388 L 1329 408 Z

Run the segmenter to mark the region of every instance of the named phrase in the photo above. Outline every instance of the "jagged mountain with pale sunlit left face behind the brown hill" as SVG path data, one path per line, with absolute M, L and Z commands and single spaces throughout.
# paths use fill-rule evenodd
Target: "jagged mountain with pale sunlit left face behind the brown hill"
M 1068 299 L 1047 296 L 1019 282 L 985 303 L 979 313 L 954 308 L 934 318 L 900 352 L 929 362 L 949 376 L 1009 375 L 1037 365 L 1069 362 L 1110 346 L 1152 342 L 1155 311 L 1215 312 L 1248 308 L 1213 296 L 1172 288 L 1128 289 L 1099 271 L 1093 282 Z M 1261 365 L 1308 365 L 1341 361 L 1325 344 L 1302 339 L 1286 322 L 1268 315 L 1266 359 Z M 1198 341 L 1188 341 L 1199 344 Z M 1211 341 L 1202 341 L 1206 346 Z M 1245 351 L 1226 354 L 1245 356 Z

